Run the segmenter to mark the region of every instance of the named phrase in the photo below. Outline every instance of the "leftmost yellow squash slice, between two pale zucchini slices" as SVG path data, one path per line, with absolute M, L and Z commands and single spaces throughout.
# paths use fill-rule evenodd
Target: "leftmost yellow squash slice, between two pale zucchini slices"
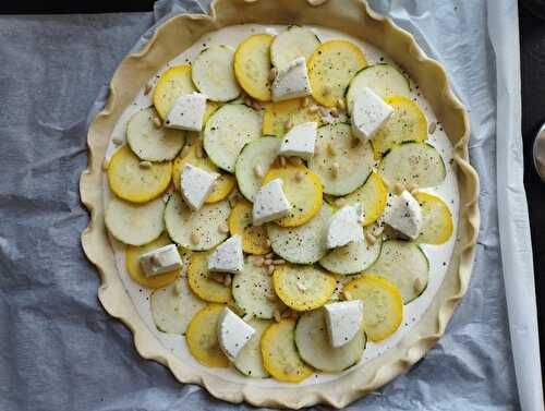
M 108 183 L 120 198 L 133 203 L 146 203 L 161 195 L 170 184 L 172 162 L 149 162 L 146 167 L 129 148 L 123 146 L 108 162 Z

